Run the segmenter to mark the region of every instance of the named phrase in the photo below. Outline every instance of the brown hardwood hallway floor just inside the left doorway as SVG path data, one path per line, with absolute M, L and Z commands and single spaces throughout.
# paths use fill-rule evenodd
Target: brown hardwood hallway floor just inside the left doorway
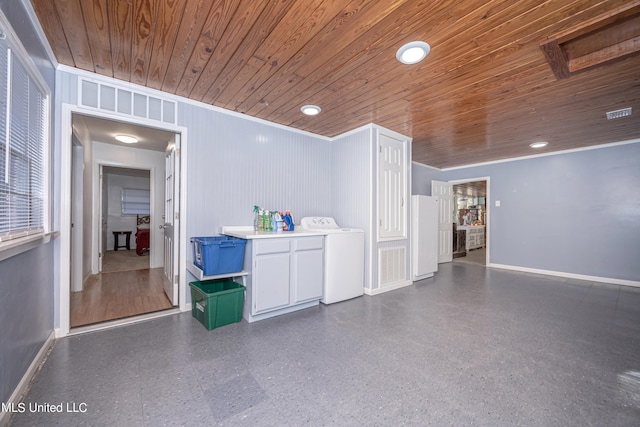
M 82 292 L 71 294 L 71 327 L 172 308 L 163 280 L 162 268 L 91 276 Z

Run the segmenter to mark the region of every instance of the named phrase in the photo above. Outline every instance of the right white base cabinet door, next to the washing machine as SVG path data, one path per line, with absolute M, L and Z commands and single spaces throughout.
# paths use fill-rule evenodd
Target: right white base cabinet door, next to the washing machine
M 293 253 L 293 302 L 322 298 L 324 251 L 322 249 Z

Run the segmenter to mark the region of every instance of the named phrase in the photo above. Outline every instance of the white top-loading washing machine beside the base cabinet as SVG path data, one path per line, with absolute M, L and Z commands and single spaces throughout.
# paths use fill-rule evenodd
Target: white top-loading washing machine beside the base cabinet
M 364 294 L 364 230 L 340 228 L 331 217 L 302 218 L 300 228 L 327 233 L 320 302 L 331 304 Z

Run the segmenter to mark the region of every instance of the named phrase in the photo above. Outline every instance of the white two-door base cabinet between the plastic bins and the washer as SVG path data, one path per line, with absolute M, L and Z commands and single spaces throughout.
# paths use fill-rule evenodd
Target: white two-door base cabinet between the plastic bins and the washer
M 322 298 L 324 236 L 252 239 L 245 253 L 247 321 L 318 305 Z

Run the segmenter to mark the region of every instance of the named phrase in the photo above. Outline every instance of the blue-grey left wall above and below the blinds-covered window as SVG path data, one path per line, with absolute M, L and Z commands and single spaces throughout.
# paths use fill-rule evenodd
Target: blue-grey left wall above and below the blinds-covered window
M 22 3 L 0 1 L 0 9 L 53 93 L 55 70 Z M 7 402 L 53 330 L 54 247 L 51 242 L 0 261 L 0 402 Z

